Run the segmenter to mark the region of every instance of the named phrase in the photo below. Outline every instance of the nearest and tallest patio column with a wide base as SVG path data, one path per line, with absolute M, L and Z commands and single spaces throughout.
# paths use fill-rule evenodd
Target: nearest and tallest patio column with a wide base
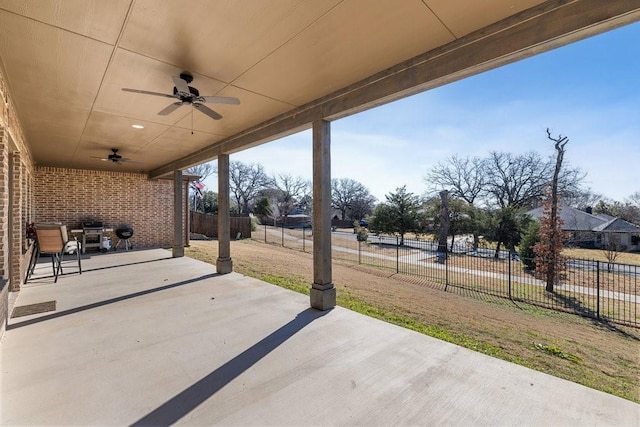
M 311 307 L 336 305 L 331 271 L 331 123 L 313 122 L 313 284 Z

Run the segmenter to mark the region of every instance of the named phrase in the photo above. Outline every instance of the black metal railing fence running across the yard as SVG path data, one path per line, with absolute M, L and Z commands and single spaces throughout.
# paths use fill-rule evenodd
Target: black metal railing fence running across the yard
M 268 227 L 264 240 L 308 252 L 313 245 L 309 228 Z M 449 249 L 447 254 L 438 253 L 437 244 L 428 240 L 401 242 L 397 237 L 370 235 L 359 241 L 356 234 L 332 234 L 334 259 L 411 275 L 445 291 L 504 298 L 640 327 L 638 265 L 570 259 L 553 292 L 548 292 L 545 281 L 525 268 L 515 253 L 465 244 Z

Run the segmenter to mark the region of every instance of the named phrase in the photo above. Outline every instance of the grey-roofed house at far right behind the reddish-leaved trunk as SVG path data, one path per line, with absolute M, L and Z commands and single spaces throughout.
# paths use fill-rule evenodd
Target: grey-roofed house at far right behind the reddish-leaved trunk
M 542 208 L 527 212 L 532 218 L 542 217 Z M 571 236 L 567 242 L 583 248 L 605 248 L 615 244 L 620 251 L 640 250 L 640 226 L 611 215 L 593 215 L 590 209 L 583 211 L 563 206 L 560 218 L 564 222 L 563 230 Z

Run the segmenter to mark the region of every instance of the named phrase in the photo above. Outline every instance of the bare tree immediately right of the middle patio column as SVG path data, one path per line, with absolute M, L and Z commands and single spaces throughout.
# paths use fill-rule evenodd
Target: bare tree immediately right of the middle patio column
M 238 212 L 249 213 L 249 205 L 256 199 L 260 190 L 267 187 L 271 180 L 257 163 L 229 163 L 229 190 L 238 205 Z

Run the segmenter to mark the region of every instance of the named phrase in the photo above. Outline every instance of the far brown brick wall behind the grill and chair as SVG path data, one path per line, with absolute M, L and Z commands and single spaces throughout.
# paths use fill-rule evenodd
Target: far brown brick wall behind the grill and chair
M 126 224 L 135 248 L 173 244 L 173 180 L 145 174 L 36 167 L 35 222 L 60 221 L 82 228 L 84 221 L 106 227 Z M 184 233 L 183 233 L 184 234 Z M 112 236 L 117 242 L 115 234 Z

